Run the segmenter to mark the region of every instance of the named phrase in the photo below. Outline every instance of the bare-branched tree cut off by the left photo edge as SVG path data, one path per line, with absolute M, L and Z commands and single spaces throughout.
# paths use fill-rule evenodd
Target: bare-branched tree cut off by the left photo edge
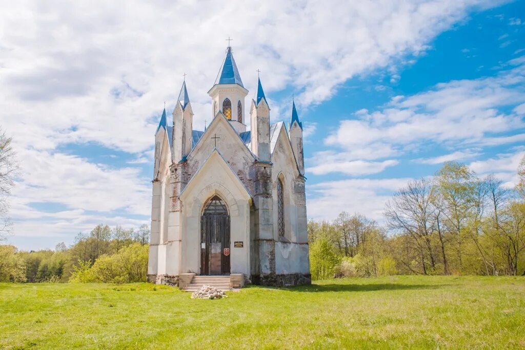
M 9 210 L 7 199 L 14 185 L 14 176 L 18 171 L 12 142 L 13 139 L 7 137 L 0 128 L 0 240 L 10 232 L 11 223 L 7 215 Z

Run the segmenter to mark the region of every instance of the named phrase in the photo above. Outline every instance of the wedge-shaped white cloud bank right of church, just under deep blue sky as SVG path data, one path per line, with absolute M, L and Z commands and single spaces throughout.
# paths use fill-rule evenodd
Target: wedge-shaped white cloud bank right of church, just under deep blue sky
M 345 150 L 390 145 L 398 152 L 429 143 L 481 145 L 516 142 L 516 132 L 525 127 L 521 107 L 525 102 L 519 84 L 525 82 L 525 67 L 502 72 L 494 78 L 440 83 L 413 96 L 396 96 L 381 111 L 361 110 L 356 119 L 344 120 L 326 140 L 328 146 Z

